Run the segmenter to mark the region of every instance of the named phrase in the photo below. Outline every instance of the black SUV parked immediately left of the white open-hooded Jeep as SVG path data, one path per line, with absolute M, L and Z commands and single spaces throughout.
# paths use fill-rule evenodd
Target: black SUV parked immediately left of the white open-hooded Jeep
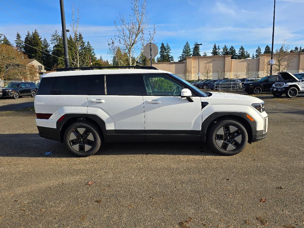
M 260 94 L 261 92 L 270 91 L 275 82 L 284 82 L 284 79 L 278 75 L 265 76 L 258 81 L 245 82 L 244 90 L 248 94 Z

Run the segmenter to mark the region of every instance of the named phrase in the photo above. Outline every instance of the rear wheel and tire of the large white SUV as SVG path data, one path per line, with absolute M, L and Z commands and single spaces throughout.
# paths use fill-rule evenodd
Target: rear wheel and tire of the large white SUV
M 88 157 L 99 150 L 101 138 L 94 125 L 76 122 L 67 127 L 64 133 L 64 144 L 75 156 Z

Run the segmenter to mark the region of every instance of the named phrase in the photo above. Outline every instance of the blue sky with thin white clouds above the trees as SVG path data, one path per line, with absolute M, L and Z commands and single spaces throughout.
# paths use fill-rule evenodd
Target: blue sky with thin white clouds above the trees
M 131 0 L 64 0 L 67 29 L 71 23 L 71 5 L 80 7 L 80 31 L 99 57 L 111 60 L 107 40 L 114 36 L 114 20 L 119 13 L 131 13 Z M 250 56 L 257 46 L 271 46 L 273 0 L 147 0 L 147 12 L 157 32 L 155 41 L 169 43 L 178 60 L 186 41 L 203 43 L 201 53 L 208 55 L 214 43 L 223 47 L 243 45 Z M 304 0 L 277 0 L 275 48 L 282 40 L 290 48 L 304 47 Z M 4 10 L 4 11 L 3 11 Z M 50 33 L 61 30 L 58 0 L 0 0 L 0 32 L 24 38 L 27 30 L 37 29 L 50 40 Z M 38 22 L 39 21 L 39 22 Z M 14 39 L 9 38 L 11 42 Z

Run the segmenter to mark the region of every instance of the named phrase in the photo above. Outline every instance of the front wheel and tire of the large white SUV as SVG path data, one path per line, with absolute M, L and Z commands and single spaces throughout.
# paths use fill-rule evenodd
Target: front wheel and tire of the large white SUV
M 248 134 L 243 124 L 237 120 L 223 119 L 208 130 L 207 142 L 218 154 L 235 155 L 245 148 Z

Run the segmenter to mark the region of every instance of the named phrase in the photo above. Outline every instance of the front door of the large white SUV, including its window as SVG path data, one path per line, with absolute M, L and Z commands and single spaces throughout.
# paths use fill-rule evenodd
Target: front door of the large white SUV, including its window
M 143 74 L 146 141 L 199 141 L 200 97 L 181 98 L 183 86 L 165 74 Z

